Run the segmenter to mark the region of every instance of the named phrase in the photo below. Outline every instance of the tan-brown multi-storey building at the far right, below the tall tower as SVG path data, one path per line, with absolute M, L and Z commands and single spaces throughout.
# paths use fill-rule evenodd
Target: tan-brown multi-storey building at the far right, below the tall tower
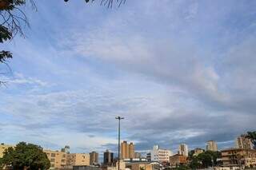
M 222 150 L 222 161 L 226 167 L 256 167 L 256 150 L 229 148 Z

